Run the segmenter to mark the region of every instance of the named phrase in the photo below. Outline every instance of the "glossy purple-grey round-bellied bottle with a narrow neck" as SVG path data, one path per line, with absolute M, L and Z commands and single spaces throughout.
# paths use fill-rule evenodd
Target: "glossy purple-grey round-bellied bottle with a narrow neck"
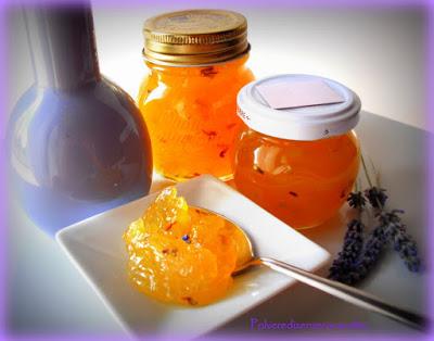
M 35 85 L 9 124 L 12 189 L 56 230 L 148 194 L 152 154 L 132 99 L 101 76 L 90 7 L 33 8 Z

